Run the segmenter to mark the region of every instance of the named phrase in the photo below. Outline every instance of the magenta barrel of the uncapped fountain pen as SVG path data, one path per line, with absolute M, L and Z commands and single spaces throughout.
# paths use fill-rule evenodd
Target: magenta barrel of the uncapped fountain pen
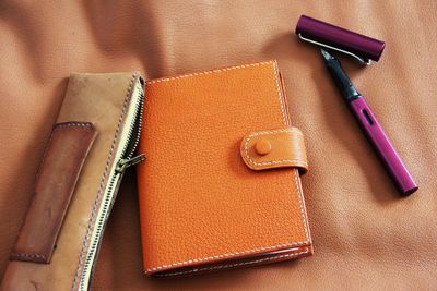
M 415 192 L 418 189 L 417 184 L 414 182 L 365 99 L 359 97 L 350 101 L 350 108 L 386 165 L 399 190 L 404 195 Z

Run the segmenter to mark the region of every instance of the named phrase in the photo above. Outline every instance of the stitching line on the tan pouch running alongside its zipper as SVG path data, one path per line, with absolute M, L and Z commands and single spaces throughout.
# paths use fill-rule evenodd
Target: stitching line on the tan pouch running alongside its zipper
M 98 186 L 98 190 L 97 190 L 97 197 L 94 201 L 93 209 L 92 209 L 92 213 L 91 213 L 91 217 L 88 219 L 88 223 L 87 223 L 87 227 L 86 227 L 86 234 L 85 234 L 85 238 L 82 241 L 82 251 L 81 251 L 81 255 L 79 256 L 78 268 L 76 268 L 74 280 L 73 280 L 73 286 L 71 288 L 72 290 L 75 289 L 76 283 L 78 283 L 78 279 L 82 275 L 81 265 L 82 265 L 82 262 L 83 262 L 85 253 L 86 253 L 86 246 L 88 245 L 91 237 L 92 237 L 91 234 L 92 234 L 92 230 L 93 230 L 93 227 L 94 227 L 93 223 L 94 223 L 95 216 L 96 216 L 96 213 L 97 213 L 97 207 L 98 207 L 98 205 L 101 203 L 101 198 L 102 198 L 102 194 L 103 194 L 103 187 L 104 187 L 105 181 L 106 181 L 106 175 L 108 174 L 110 160 L 113 159 L 113 154 L 114 154 L 114 150 L 115 150 L 116 142 L 118 140 L 118 134 L 119 134 L 119 131 L 120 131 L 121 122 L 122 122 L 122 119 L 123 119 L 123 117 L 126 114 L 126 109 L 127 109 L 127 106 L 129 104 L 130 92 L 131 92 L 131 89 L 133 87 L 133 82 L 135 81 L 137 75 L 138 75 L 138 73 L 134 72 L 132 74 L 132 76 L 131 76 L 131 80 L 130 80 L 130 83 L 129 83 L 129 86 L 128 86 L 128 89 L 127 89 L 127 93 L 126 93 L 125 101 L 123 101 L 123 105 L 122 105 L 121 114 L 118 118 L 116 132 L 115 132 L 113 142 L 110 144 L 110 150 L 109 150 L 108 158 L 106 160 L 105 170 L 104 170 L 104 173 L 102 175 L 101 183 L 99 183 L 99 186 Z

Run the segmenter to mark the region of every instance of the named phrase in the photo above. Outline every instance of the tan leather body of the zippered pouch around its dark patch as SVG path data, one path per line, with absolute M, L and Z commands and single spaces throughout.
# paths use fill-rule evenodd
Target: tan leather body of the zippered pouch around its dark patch
M 10 262 L 0 290 L 78 290 L 85 256 L 94 247 L 90 243 L 92 234 L 97 225 L 106 222 L 97 221 L 97 213 L 105 204 L 108 169 L 117 162 L 115 153 L 120 145 L 126 112 L 133 106 L 130 100 L 138 80 L 138 73 L 70 76 L 57 123 L 87 121 L 94 124 L 98 136 L 83 165 L 50 264 Z

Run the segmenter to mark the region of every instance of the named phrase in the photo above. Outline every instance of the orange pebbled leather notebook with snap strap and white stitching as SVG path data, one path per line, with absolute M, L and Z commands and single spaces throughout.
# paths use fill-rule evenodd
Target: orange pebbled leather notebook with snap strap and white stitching
M 145 274 L 188 276 L 312 253 L 275 61 L 146 82 L 138 166 Z

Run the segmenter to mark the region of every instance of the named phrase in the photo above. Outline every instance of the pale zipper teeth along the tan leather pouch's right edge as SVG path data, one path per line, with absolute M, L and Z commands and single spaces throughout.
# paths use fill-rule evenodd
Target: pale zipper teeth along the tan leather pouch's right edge
M 138 86 L 138 85 L 137 85 Z M 138 134 L 137 134 L 137 138 L 135 142 L 133 144 L 132 147 L 132 151 L 129 153 L 128 158 L 131 158 L 131 156 L 133 156 L 135 148 L 140 142 L 140 134 L 141 134 L 141 126 L 142 126 L 142 118 L 143 118 L 143 107 L 144 107 L 144 93 L 142 87 L 140 86 L 140 92 L 139 92 L 139 98 L 138 101 L 135 102 L 135 112 L 138 112 L 134 117 L 134 120 L 137 122 L 139 122 L 139 126 L 138 126 Z M 129 146 L 129 140 L 132 137 L 133 131 L 134 131 L 134 124 L 135 122 L 133 122 L 132 126 L 130 126 L 128 135 L 127 135 L 127 143 L 126 145 L 123 145 L 123 149 L 121 151 L 121 156 L 123 156 L 123 154 L 126 154 L 125 151 L 127 150 L 128 146 Z M 115 174 L 109 179 L 108 182 L 108 187 L 107 187 L 107 193 L 113 193 L 114 191 L 114 186 L 115 186 L 115 182 L 117 180 L 117 178 L 119 178 L 120 174 L 115 172 Z M 113 201 L 114 195 L 104 195 L 104 201 L 103 201 L 103 206 L 102 206 L 102 215 L 97 218 L 97 225 L 96 225 L 96 235 L 95 235 L 95 240 L 91 243 L 90 245 L 90 251 L 88 251 L 88 256 L 85 259 L 84 266 L 83 266 L 83 271 L 82 271 L 82 278 L 81 278 L 81 283 L 80 283 L 80 289 L 84 290 L 84 283 L 85 283 L 85 279 L 86 279 L 86 275 L 90 270 L 90 267 L 92 267 L 92 263 L 94 260 L 95 257 L 95 252 L 97 250 L 98 246 L 98 242 L 99 242 L 99 238 L 102 235 L 102 230 L 103 227 L 105 225 L 105 218 L 106 218 L 106 214 L 108 211 L 108 209 L 110 208 L 111 202 Z

